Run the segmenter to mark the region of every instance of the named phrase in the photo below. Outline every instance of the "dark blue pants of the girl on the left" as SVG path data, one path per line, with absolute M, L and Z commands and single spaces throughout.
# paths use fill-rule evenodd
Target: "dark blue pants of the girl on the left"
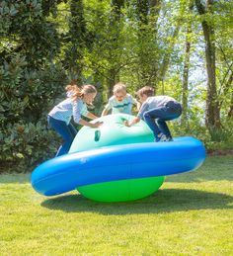
M 64 121 L 55 120 L 50 116 L 47 116 L 47 123 L 50 128 L 53 128 L 63 138 L 63 143 L 56 152 L 56 156 L 67 154 L 69 148 L 77 134 L 76 128 L 71 124 L 66 125 Z

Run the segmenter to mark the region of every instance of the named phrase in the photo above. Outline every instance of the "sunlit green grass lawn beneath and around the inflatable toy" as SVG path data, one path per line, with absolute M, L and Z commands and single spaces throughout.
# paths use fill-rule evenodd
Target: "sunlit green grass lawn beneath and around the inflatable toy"
M 233 255 L 232 181 L 233 157 L 208 157 L 149 198 L 100 204 L 0 175 L 0 255 Z

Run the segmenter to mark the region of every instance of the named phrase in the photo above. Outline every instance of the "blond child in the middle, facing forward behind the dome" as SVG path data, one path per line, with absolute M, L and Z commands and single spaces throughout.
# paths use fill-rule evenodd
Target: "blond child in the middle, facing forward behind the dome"
M 124 113 L 131 115 L 132 105 L 136 104 L 139 109 L 139 103 L 126 92 L 126 86 L 122 83 L 117 83 L 114 87 L 114 96 L 109 99 L 102 116 L 106 116 L 110 110 L 112 114 Z

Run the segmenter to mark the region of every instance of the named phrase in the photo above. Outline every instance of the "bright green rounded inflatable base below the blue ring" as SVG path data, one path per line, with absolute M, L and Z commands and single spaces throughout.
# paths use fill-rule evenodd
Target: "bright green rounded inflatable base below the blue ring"
M 97 183 L 78 187 L 85 198 L 97 202 L 127 202 L 142 199 L 156 192 L 164 176 Z

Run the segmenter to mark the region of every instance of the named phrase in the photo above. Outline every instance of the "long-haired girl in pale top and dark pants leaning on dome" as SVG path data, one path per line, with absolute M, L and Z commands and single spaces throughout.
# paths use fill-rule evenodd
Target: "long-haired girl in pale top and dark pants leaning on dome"
M 95 115 L 88 112 L 86 104 L 92 104 L 96 97 L 97 90 L 93 85 L 84 85 L 80 90 L 77 85 L 66 86 L 67 99 L 56 105 L 47 116 L 49 127 L 55 129 L 64 139 L 63 144 L 59 147 L 56 156 L 66 154 L 77 133 L 76 128 L 70 123 L 73 116 L 75 123 L 90 128 L 98 128 L 101 122 L 91 124 L 81 118 L 85 116 L 89 119 L 97 119 Z

